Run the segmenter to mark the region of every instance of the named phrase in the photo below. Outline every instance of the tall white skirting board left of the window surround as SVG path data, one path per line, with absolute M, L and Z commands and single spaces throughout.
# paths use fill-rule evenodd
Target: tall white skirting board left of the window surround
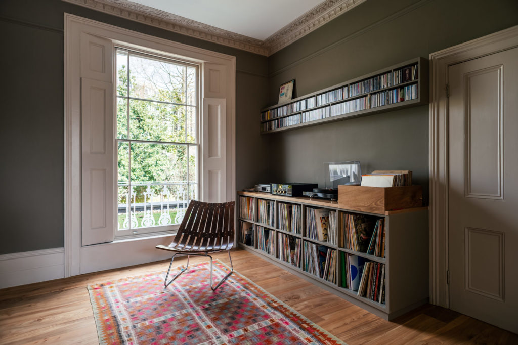
M 65 277 L 64 249 L 0 255 L 0 289 Z

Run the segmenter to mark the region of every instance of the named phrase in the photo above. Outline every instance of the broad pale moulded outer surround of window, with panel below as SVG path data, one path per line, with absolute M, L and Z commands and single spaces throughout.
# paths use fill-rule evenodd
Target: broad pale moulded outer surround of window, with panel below
M 165 251 L 155 249 L 158 244 L 168 245 L 170 235 L 156 235 L 142 238 L 121 239 L 106 243 L 82 246 L 82 210 L 81 210 L 81 59 L 79 56 L 80 35 L 109 38 L 115 45 L 126 45 L 132 49 L 151 52 L 164 52 L 174 59 L 184 57 L 186 60 L 200 64 L 200 111 L 206 108 L 206 102 L 218 104 L 211 109 L 221 109 L 220 114 L 213 114 L 222 119 L 225 132 L 222 135 L 225 144 L 222 150 L 223 160 L 206 157 L 207 152 L 199 152 L 203 160 L 200 164 L 199 181 L 207 175 L 204 161 L 210 161 L 209 172 L 217 176 L 221 169 L 221 190 L 200 190 L 202 200 L 218 199 L 231 201 L 235 199 L 235 77 L 236 58 L 232 55 L 213 52 L 178 42 L 141 34 L 117 26 L 85 19 L 64 13 L 64 266 L 65 277 L 164 260 L 170 257 Z M 112 46 L 112 48 L 113 48 Z M 94 78 L 95 79 L 95 78 Z M 226 106 L 225 106 L 226 104 Z M 204 114 L 200 113 L 200 118 Z M 207 126 L 200 132 L 200 145 L 204 147 L 203 137 Z M 202 135 L 203 133 L 203 135 Z M 225 134 L 226 133 L 226 134 Z M 209 162 L 207 161 L 207 162 Z M 212 186 L 210 187 L 212 188 Z M 214 195 L 216 197 L 214 197 Z M 114 205 L 114 203 L 112 204 Z

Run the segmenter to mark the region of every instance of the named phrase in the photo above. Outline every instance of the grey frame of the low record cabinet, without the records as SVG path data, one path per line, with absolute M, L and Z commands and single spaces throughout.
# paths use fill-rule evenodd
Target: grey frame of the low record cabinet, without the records
M 242 242 L 238 242 L 241 248 L 260 255 L 265 260 L 274 263 L 283 269 L 292 272 L 298 277 L 318 285 L 323 289 L 332 292 L 335 295 L 338 295 L 385 320 L 394 319 L 399 315 L 410 311 L 428 301 L 428 211 L 426 207 L 398 211 L 385 211 L 384 213 L 369 213 L 342 209 L 338 207 L 336 202 L 310 199 L 307 197 L 286 197 L 262 192 L 238 192 L 238 199 L 240 197 L 253 198 L 254 207 L 252 219 L 239 217 L 239 212 L 237 213 L 238 223 L 240 220 L 242 220 L 253 224 L 254 246 L 247 246 Z M 257 222 L 258 199 L 273 200 L 275 202 L 274 226 L 267 226 L 266 224 Z M 299 221 L 302 226 L 301 234 L 283 231 L 279 228 L 279 203 L 300 205 L 301 212 Z M 340 236 L 342 236 L 340 229 L 342 227 L 341 214 L 343 212 L 362 213 L 376 216 L 377 218 L 384 218 L 385 257 L 368 255 L 365 253 L 342 248 L 339 245 L 332 245 L 327 242 L 321 242 L 308 238 L 305 231 L 305 211 L 307 207 L 327 208 L 329 210 L 338 212 L 338 244 L 340 244 Z M 276 237 L 276 248 L 274 255 L 270 255 L 267 252 L 258 249 L 258 226 L 264 226 L 265 228 L 274 231 L 274 235 Z M 312 275 L 305 271 L 303 268 L 294 266 L 289 262 L 282 260 L 279 257 L 278 250 L 279 233 L 294 236 L 295 238 L 301 239 L 303 241 L 312 242 L 317 245 L 324 245 L 330 249 L 336 250 L 336 283 L 332 283 L 318 276 Z M 302 257 L 304 260 L 304 246 L 302 247 Z M 356 291 L 351 291 L 345 287 L 340 286 L 341 274 L 344 269 L 344 267 L 341 267 L 339 260 L 338 254 L 340 252 L 362 256 L 369 261 L 385 264 L 385 304 L 380 304 L 377 301 L 357 296 Z M 302 267 L 304 267 L 304 265 Z

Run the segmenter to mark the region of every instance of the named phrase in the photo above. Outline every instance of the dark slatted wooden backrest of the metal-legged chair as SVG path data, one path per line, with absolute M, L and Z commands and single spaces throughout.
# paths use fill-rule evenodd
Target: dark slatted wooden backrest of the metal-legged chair
M 169 247 L 178 250 L 229 250 L 234 246 L 235 202 L 202 203 L 191 200 Z

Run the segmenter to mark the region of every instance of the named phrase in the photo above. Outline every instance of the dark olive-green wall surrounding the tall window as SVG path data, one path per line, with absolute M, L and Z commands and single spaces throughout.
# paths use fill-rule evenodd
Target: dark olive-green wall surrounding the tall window
M 0 254 L 64 246 L 63 13 L 236 56 L 236 185 L 264 174 L 267 57 L 60 0 L 0 1 Z M 248 149 L 247 149 L 248 148 Z

